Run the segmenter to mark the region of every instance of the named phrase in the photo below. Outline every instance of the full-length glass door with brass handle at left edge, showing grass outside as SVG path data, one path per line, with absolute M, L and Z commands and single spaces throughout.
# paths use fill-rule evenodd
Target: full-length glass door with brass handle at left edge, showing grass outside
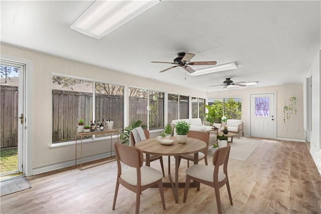
M 24 174 L 25 65 L 1 60 L 0 64 L 1 178 Z

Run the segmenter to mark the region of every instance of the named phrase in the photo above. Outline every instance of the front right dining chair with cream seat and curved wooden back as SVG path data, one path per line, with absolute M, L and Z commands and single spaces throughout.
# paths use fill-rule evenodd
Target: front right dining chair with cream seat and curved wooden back
M 213 165 L 205 166 L 202 164 L 193 165 L 186 170 L 186 182 L 183 202 L 186 202 L 187 193 L 190 186 L 191 179 L 199 182 L 197 190 L 200 190 L 200 183 L 211 186 L 215 190 L 217 209 L 219 213 L 222 213 L 221 199 L 219 188 L 226 184 L 227 191 L 230 198 L 230 203 L 232 202 L 232 195 L 230 190 L 229 178 L 227 175 L 227 163 L 229 160 L 231 146 L 218 148 L 213 154 Z M 223 165 L 223 171 L 219 170 L 220 166 Z

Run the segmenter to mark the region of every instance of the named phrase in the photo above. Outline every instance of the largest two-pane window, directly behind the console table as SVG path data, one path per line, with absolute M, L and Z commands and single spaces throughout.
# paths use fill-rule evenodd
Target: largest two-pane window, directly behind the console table
M 123 86 L 52 75 L 53 143 L 75 139 L 80 119 L 90 125 L 109 118 L 122 129 Z

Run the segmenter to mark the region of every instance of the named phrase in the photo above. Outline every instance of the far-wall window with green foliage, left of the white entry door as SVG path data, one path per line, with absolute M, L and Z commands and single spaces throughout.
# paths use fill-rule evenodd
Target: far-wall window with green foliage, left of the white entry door
M 223 115 L 227 119 L 241 119 L 241 98 L 212 98 L 208 99 L 208 103 L 215 110 L 216 118 L 214 123 L 220 123 Z

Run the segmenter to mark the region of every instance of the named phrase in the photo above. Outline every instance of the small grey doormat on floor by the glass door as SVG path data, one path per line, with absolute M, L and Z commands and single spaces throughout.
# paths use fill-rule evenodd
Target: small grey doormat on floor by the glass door
M 0 186 L 1 196 L 31 188 L 31 184 L 25 177 L 2 181 Z

